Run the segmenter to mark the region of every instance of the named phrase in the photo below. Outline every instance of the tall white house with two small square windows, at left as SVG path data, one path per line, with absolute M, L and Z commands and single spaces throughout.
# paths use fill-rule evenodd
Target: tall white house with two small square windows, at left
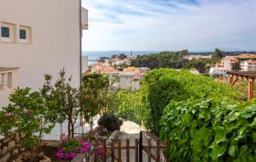
M 19 87 L 38 89 L 45 73 L 56 79 L 64 67 L 79 87 L 81 36 L 88 29 L 80 0 L 1 0 L 0 25 L 0 66 L 20 67 Z

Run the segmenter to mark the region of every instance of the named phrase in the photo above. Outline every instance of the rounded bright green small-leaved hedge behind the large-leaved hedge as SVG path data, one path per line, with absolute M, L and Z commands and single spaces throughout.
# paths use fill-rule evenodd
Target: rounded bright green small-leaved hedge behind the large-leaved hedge
M 187 70 L 151 70 L 142 81 L 143 108 L 148 115 L 146 127 L 155 134 L 160 132 L 163 109 L 170 100 L 183 101 L 188 98 L 240 98 L 240 92 L 203 75 L 193 75 Z

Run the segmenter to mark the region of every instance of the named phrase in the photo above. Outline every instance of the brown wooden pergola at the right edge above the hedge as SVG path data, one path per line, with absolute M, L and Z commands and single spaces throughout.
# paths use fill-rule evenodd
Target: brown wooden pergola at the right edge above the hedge
M 253 82 L 256 80 L 256 71 L 228 71 L 229 84 L 235 85 L 238 80 L 248 81 L 248 100 L 253 99 Z

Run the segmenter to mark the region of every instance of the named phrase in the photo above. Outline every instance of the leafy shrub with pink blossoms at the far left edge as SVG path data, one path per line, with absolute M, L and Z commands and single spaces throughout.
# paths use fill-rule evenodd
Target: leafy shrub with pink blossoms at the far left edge
M 23 147 L 27 152 L 36 152 L 42 133 L 49 133 L 55 126 L 55 103 L 28 87 L 16 89 L 9 101 L 9 106 L 0 111 L 0 134 L 8 137 L 15 131 L 22 132 Z M 33 155 L 30 160 L 34 160 Z

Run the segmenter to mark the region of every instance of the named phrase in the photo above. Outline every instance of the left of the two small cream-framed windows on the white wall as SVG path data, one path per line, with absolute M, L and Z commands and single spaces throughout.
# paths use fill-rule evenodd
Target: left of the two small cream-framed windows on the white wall
M 15 42 L 15 25 L 1 22 L 2 42 Z

